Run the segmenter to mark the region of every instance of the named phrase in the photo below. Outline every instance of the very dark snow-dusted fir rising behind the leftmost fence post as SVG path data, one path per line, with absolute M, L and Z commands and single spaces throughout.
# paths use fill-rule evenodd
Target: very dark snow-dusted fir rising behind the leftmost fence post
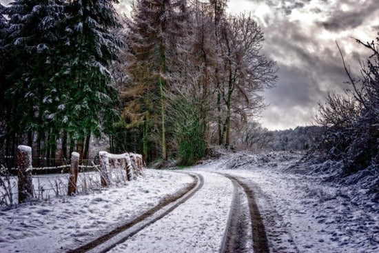
M 50 82 L 57 63 L 59 24 L 64 20 L 63 1 L 19 0 L 10 3 L 5 13 L 10 17 L 6 32 L 6 48 L 10 53 L 7 90 L 12 117 L 8 119 L 8 135 L 28 136 L 28 145 L 44 138 L 51 128 L 52 117 L 45 109 L 55 102 L 54 84 Z M 50 95 L 50 96 L 49 96 Z M 50 146 L 55 141 L 48 136 Z M 37 148 L 40 148 L 39 146 Z

